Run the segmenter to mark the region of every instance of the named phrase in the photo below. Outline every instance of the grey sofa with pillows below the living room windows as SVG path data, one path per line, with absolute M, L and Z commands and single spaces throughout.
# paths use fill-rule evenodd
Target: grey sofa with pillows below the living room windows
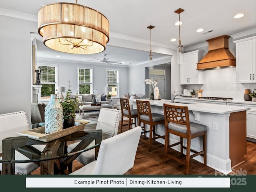
M 71 95 L 70 97 L 72 98 L 76 98 L 79 102 L 78 105 L 91 105 L 92 104 L 92 98 L 93 98 L 93 94 L 78 94 L 77 97 L 76 95 Z M 101 102 L 101 104 L 108 104 L 110 105 L 110 101 L 106 98 L 106 95 L 104 94 L 97 94 L 95 96 L 96 98 L 96 102 Z M 104 105 L 104 107 L 106 107 L 106 105 Z M 107 106 L 107 108 L 110 108 L 111 106 Z M 99 107 L 100 108 L 100 107 Z M 91 110 L 93 110 L 94 108 L 92 107 Z M 79 112 L 79 106 L 76 109 L 77 112 Z

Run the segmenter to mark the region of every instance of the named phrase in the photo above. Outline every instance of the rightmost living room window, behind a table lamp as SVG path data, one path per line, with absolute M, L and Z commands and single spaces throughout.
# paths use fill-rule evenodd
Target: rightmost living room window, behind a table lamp
M 119 70 L 107 69 L 107 87 L 112 88 L 112 91 L 109 92 L 109 94 L 111 94 L 112 97 L 119 97 L 118 84 L 119 84 Z

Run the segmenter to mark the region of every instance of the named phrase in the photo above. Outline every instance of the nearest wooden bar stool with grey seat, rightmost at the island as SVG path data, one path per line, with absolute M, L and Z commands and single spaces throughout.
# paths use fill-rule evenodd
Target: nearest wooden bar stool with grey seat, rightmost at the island
M 164 162 L 166 163 L 167 157 L 170 157 L 186 167 L 186 174 L 189 170 L 190 159 L 201 155 L 204 157 L 204 166 L 206 166 L 206 132 L 207 126 L 190 122 L 188 114 L 188 106 L 175 106 L 164 103 L 164 120 L 165 120 L 165 143 L 164 143 Z M 180 136 L 180 142 L 169 145 L 169 133 Z M 193 138 L 202 136 L 203 138 L 203 150 L 197 152 L 192 150 L 191 140 Z M 183 138 L 187 139 L 187 146 L 183 146 Z M 186 149 L 186 161 L 183 161 L 176 156 L 170 154 L 170 150 L 173 146 L 180 144 L 180 155 L 183 155 L 183 148 Z M 172 149 L 173 150 L 173 149 Z M 190 152 L 194 154 L 190 155 Z

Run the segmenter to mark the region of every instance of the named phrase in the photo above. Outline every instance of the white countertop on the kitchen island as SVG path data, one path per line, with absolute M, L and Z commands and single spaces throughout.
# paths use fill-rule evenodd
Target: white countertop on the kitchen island
M 193 98 L 194 99 L 194 98 Z M 196 103 L 194 101 L 191 101 L 188 103 L 180 102 L 172 103 L 171 100 L 150 100 L 150 99 L 138 99 L 138 100 L 149 100 L 150 105 L 153 106 L 164 106 L 164 103 L 166 104 L 172 104 L 176 106 L 188 106 L 188 110 L 191 111 L 198 111 L 198 112 L 206 112 L 206 113 L 216 113 L 216 114 L 226 114 L 226 113 L 234 113 L 234 112 L 240 112 L 245 110 L 250 110 L 250 107 L 245 106 L 230 106 L 230 105 L 218 105 L 218 104 L 208 104 L 208 103 Z M 136 105 L 136 99 L 131 99 L 132 102 L 135 102 Z

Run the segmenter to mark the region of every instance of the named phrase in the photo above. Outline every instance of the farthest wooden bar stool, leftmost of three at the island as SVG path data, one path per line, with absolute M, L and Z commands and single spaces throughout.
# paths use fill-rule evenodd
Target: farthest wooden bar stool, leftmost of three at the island
M 120 107 L 121 107 L 121 133 L 123 131 L 123 126 L 128 125 L 128 130 L 131 129 L 131 125 L 136 127 L 136 120 L 138 118 L 137 109 L 131 109 L 128 98 L 119 98 L 120 99 Z M 123 124 L 124 117 L 129 118 L 128 124 Z M 134 123 L 132 123 L 132 119 L 134 119 Z

